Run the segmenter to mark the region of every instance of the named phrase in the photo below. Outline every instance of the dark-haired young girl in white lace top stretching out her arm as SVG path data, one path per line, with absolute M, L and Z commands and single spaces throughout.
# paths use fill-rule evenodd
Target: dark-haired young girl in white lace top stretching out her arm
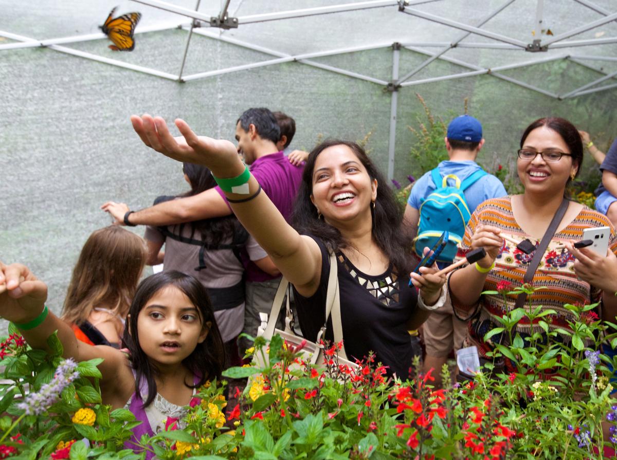
M 57 331 L 65 358 L 103 358 L 102 403 L 128 408 L 144 422 L 133 430 L 137 440 L 160 431 L 167 417 L 181 419 L 196 388 L 220 377 L 223 342 L 207 292 L 192 276 L 162 272 L 139 284 L 123 334 L 128 355 L 78 341 L 48 311 L 46 298 L 47 286 L 26 266 L 0 262 L 0 316 L 14 322 L 33 348 L 45 350 Z

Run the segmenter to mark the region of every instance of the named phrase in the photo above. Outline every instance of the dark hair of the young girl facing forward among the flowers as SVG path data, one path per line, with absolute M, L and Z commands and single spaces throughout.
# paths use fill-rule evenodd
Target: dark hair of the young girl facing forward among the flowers
M 212 303 L 210 303 L 210 297 L 204 285 L 195 277 L 176 270 L 162 271 L 147 277 L 137 287 L 137 292 L 129 310 L 130 317 L 126 320 L 122 336 L 123 345 L 128 348 L 131 367 L 135 369 L 135 392 L 139 394 L 139 382 L 141 382 L 141 379 L 145 379 L 148 384 L 148 396 L 144 402 L 144 407 L 149 406 L 157 394 L 154 376 L 159 372 L 159 369 L 151 363 L 146 353 L 141 349 L 137 332 L 137 321 L 139 312 L 146 306 L 148 300 L 167 286 L 180 289 L 189 298 L 191 303 L 199 310 L 199 321 L 202 325 L 208 321 L 212 322 L 204 342 L 197 343 L 193 353 L 182 361 L 184 366 L 190 371 L 201 376 L 197 385 L 193 385 L 193 382 L 191 382 L 191 385 L 188 385 L 185 382 L 186 386 L 197 388 L 207 380 L 220 379 L 223 364 L 225 363 L 223 339 L 218 331 Z

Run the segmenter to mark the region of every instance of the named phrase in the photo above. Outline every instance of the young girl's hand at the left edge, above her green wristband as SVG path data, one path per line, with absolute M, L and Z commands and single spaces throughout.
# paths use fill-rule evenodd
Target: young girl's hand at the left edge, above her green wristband
M 47 285 L 27 266 L 0 262 L 0 316 L 25 323 L 35 319 L 45 306 Z

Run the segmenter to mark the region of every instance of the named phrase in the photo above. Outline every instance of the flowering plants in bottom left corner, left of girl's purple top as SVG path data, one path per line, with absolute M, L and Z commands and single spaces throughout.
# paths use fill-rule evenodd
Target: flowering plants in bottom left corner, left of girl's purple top
M 56 334 L 43 351 L 28 347 L 12 325 L 9 333 L 0 343 L 0 459 L 139 458 L 123 451 L 135 417 L 101 404 L 101 359 L 63 359 Z

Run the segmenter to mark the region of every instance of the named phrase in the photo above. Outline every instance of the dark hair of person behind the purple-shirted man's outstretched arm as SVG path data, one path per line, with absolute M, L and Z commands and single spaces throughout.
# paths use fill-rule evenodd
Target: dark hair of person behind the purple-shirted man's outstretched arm
M 183 163 L 182 171 L 189 179 L 191 190 L 180 196 L 192 197 L 217 185 L 212 173 L 205 166 Z M 189 224 L 192 228 L 191 237 L 193 237 L 195 231 L 198 231 L 201 234 L 202 241 L 206 244 L 221 244 L 223 240 L 229 239 L 230 235 L 234 236 L 234 244 L 243 244 L 249 237 L 246 229 L 242 227 L 233 214 L 194 221 Z

